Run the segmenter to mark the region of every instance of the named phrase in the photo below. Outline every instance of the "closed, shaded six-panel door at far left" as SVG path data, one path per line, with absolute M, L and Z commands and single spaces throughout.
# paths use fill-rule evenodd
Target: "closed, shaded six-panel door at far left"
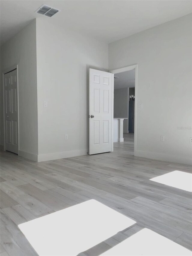
M 5 150 L 18 154 L 17 70 L 4 74 Z

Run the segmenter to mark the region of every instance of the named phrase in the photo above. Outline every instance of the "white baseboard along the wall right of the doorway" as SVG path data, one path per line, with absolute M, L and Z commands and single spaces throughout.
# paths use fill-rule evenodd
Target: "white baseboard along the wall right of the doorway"
M 160 154 L 160 153 L 154 153 L 154 152 L 146 152 L 146 151 L 140 151 L 140 150 L 136 150 L 134 152 L 134 155 L 139 157 L 144 157 L 144 158 L 166 161 L 166 162 L 192 165 L 192 158 L 187 158 L 187 157 Z

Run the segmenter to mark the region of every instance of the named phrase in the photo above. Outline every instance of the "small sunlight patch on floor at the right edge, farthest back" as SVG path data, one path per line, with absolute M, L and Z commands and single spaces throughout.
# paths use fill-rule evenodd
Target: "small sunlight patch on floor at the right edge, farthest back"
M 173 171 L 164 175 L 150 179 L 152 181 L 165 184 L 174 188 L 180 188 L 189 192 L 192 192 L 192 174 Z

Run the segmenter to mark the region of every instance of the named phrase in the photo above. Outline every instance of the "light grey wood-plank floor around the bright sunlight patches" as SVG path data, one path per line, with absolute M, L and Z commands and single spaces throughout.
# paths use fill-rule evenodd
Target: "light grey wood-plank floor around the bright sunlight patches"
M 174 170 L 191 166 L 134 157 L 133 134 L 112 153 L 41 163 L 1 152 L 1 256 L 37 255 L 17 225 L 91 198 L 137 223 L 81 255 L 99 255 L 144 227 L 191 250 L 191 193 L 150 181 Z

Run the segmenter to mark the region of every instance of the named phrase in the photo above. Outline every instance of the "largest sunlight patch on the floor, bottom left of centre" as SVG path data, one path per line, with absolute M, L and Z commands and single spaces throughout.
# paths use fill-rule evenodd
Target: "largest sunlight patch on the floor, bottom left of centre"
M 20 224 L 19 228 L 40 256 L 77 255 L 134 223 L 91 199 Z

